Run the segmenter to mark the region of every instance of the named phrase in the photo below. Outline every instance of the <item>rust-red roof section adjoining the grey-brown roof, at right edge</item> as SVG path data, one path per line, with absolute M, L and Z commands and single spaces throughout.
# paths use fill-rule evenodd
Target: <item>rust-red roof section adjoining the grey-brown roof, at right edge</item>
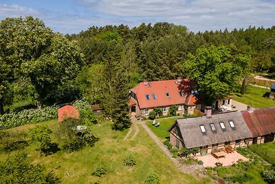
M 275 108 L 242 113 L 253 137 L 275 133 Z

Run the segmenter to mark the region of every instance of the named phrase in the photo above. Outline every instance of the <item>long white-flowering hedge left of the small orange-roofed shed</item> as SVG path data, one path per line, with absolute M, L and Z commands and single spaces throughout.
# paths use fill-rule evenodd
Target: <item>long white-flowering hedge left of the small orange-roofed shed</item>
M 27 123 L 39 123 L 57 118 L 58 108 L 50 106 L 41 110 L 22 110 L 20 112 L 10 112 L 0 116 L 0 130 L 25 125 Z

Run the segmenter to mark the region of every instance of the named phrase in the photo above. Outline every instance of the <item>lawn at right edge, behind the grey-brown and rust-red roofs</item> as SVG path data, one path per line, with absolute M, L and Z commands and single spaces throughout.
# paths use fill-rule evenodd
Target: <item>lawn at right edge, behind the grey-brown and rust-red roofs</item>
M 243 94 L 243 96 L 234 95 L 233 99 L 247 105 L 253 105 L 257 109 L 270 108 L 275 106 L 275 101 L 268 99 L 268 97 L 263 97 L 269 92 L 270 90 L 268 89 L 250 86 L 247 94 Z

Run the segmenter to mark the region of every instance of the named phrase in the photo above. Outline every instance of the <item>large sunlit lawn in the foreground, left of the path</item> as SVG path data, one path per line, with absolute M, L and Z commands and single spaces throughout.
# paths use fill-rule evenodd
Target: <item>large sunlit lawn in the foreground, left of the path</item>
M 52 139 L 56 139 L 56 120 L 43 123 L 53 131 Z M 8 132 L 28 132 L 34 124 L 16 127 Z M 123 140 L 129 130 L 122 132 L 111 130 L 110 123 L 104 122 L 94 125 L 92 130 L 99 141 L 94 147 L 85 147 L 77 152 L 56 152 L 50 156 L 39 156 L 35 145 L 25 147 L 23 151 L 33 160 L 33 163 L 45 165 L 47 171 L 53 171 L 61 178 L 62 183 L 144 183 L 149 172 L 156 172 L 161 183 L 210 183 L 208 178 L 194 178 L 184 174 L 168 159 L 168 157 L 153 142 L 151 137 L 138 125 L 140 132 L 134 140 Z M 131 138 L 131 137 L 130 137 Z M 22 150 L 21 150 L 22 151 Z M 10 153 L 0 152 L 0 159 L 7 158 Z M 128 167 L 124 165 L 124 159 L 132 156 L 136 165 Z M 98 167 L 104 166 L 107 174 L 98 177 L 92 176 L 91 172 Z

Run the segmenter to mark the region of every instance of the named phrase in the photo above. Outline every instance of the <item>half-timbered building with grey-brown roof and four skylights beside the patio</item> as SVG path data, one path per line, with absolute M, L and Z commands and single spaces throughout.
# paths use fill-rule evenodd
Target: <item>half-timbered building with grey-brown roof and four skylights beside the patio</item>
M 245 147 L 252 138 L 239 111 L 178 119 L 168 131 L 174 147 L 200 147 L 201 156 L 225 145 Z

